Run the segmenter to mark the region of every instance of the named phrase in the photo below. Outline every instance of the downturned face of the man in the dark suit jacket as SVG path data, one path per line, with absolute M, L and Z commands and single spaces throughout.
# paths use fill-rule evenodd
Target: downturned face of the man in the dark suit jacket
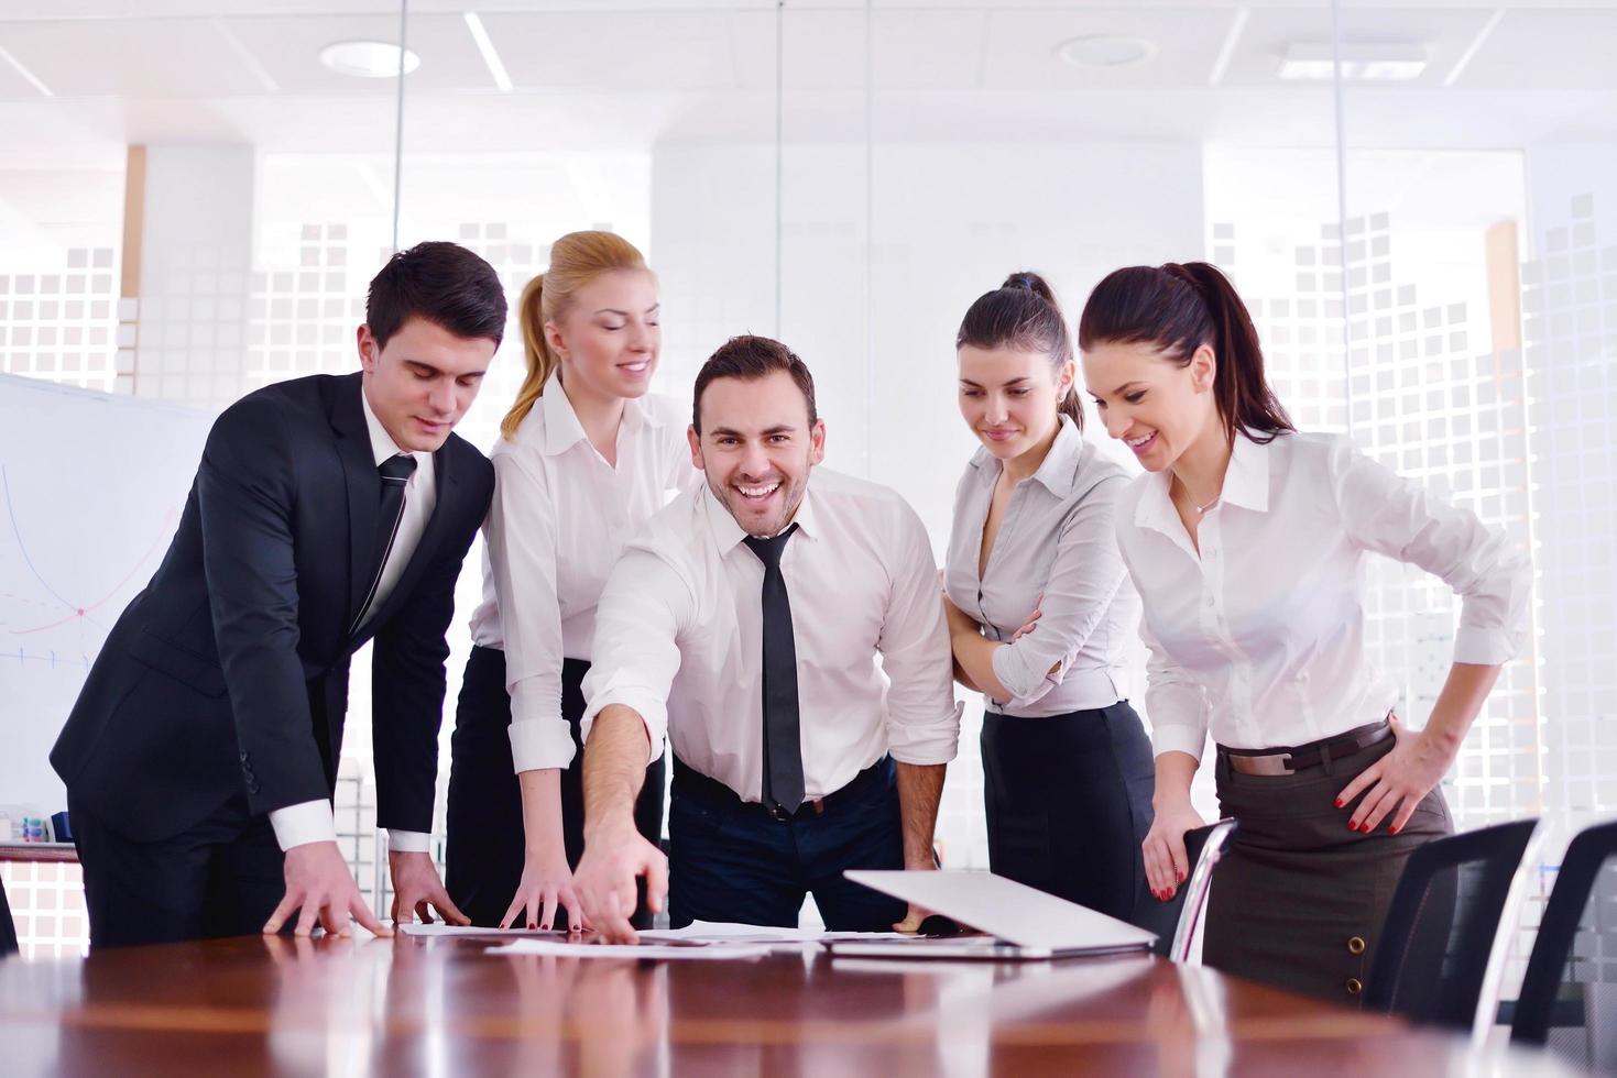
M 406 453 L 437 453 L 477 399 L 495 357 L 490 338 L 454 336 L 435 322 L 407 318 L 386 346 L 359 326 L 359 365 L 370 411 Z

